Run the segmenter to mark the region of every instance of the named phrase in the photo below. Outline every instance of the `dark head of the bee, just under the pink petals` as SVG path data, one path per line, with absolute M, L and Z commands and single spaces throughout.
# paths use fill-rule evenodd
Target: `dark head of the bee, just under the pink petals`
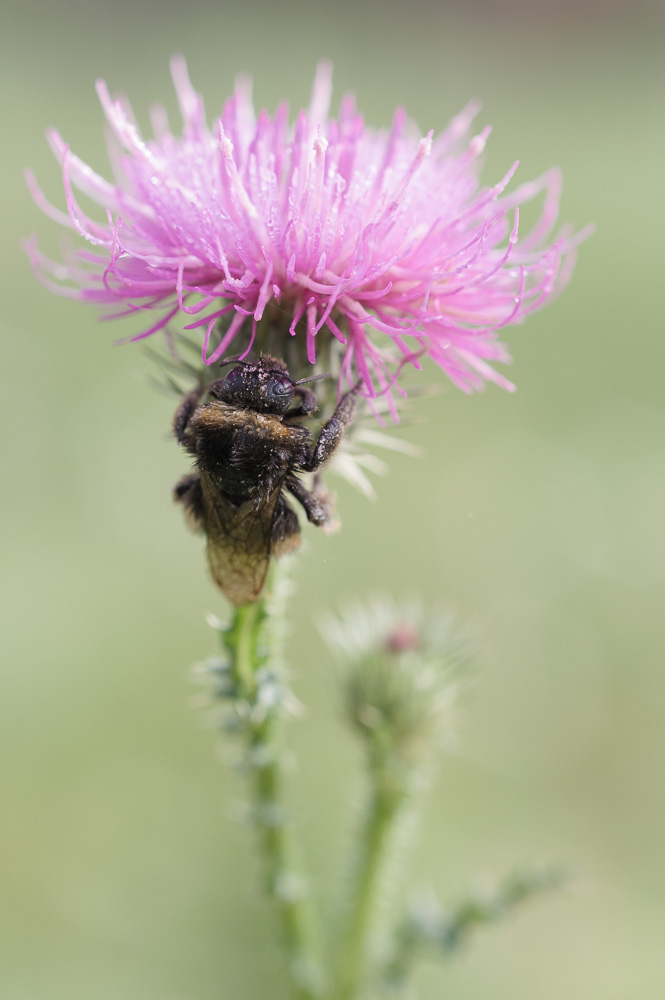
M 295 387 L 284 362 L 264 355 L 256 363 L 240 362 L 208 391 L 225 403 L 282 416 L 291 405 Z

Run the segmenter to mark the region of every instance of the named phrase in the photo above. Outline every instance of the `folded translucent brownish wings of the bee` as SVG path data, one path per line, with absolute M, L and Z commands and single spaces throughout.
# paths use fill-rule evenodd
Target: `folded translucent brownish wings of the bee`
M 204 482 L 208 562 L 217 586 L 232 604 L 248 604 L 261 593 L 279 494 L 277 488 L 258 504 L 248 500 L 236 507 Z

